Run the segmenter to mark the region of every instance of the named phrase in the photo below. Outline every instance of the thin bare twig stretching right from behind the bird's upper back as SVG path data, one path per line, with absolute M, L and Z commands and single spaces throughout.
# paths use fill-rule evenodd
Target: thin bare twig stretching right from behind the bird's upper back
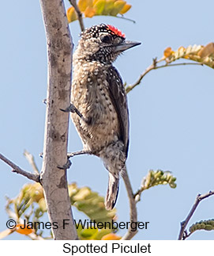
M 158 61 L 160 62 L 160 61 Z M 156 62 L 156 63 L 158 63 Z M 175 64 L 165 64 L 162 66 L 156 66 L 156 64 L 152 63 L 152 65 L 150 65 L 145 71 L 144 73 L 137 79 L 137 82 L 135 82 L 133 85 L 131 86 L 127 86 L 126 87 L 126 94 L 128 94 L 130 92 L 130 90 L 133 90 L 134 87 L 138 86 L 141 83 L 141 80 L 145 77 L 145 75 L 148 74 L 148 72 L 155 70 L 155 69 L 159 69 L 162 67 L 175 67 L 175 66 L 184 66 L 184 65 L 199 65 L 199 66 L 203 66 L 203 63 L 175 63 Z

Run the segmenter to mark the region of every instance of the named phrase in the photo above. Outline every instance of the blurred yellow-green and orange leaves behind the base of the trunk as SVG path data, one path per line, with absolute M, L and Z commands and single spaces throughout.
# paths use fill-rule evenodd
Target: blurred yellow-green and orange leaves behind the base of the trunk
M 88 187 L 78 188 L 76 183 L 68 185 L 71 204 L 81 212 L 84 212 L 90 220 L 95 223 L 111 222 L 116 220 L 116 209 L 107 211 L 104 206 L 104 198 L 93 192 Z M 51 239 L 50 235 L 43 235 L 43 229 L 37 225 L 34 228 L 24 228 L 25 223 L 42 223 L 42 217 L 47 212 L 46 203 L 43 197 L 43 188 L 39 183 L 26 184 L 21 192 L 14 199 L 7 198 L 6 212 L 10 219 L 17 223 L 17 227 L 10 231 L 3 231 L 0 238 L 16 231 L 21 235 L 28 235 L 32 239 Z M 51 230 L 51 229 L 50 229 Z M 93 228 L 77 227 L 80 239 L 102 239 L 103 235 L 111 233 L 111 229 L 99 230 L 96 225 Z

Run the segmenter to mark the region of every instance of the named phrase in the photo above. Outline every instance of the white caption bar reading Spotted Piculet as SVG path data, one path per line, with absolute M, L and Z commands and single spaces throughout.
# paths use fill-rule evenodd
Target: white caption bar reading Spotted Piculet
M 0 241 L 1 255 L 113 255 L 213 256 L 213 241 Z M 3 254 L 4 253 L 4 254 Z

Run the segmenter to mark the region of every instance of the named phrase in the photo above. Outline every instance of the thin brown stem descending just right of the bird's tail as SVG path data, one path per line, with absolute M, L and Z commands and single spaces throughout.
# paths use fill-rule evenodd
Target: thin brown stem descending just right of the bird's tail
M 136 202 L 133 197 L 133 189 L 130 183 L 130 178 L 128 176 L 127 170 L 122 170 L 122 178 L 126 185 L 126 191 L 128 193 L 129 201 L 130 201 L 130 222 L 136 222 L 137 223 L 137 208 L 136 208 Z M 133 238 L 134 235 L 137 234 L 136 231 L 132 231 L 131 227 L 129 227 L 128 231 L 125 235 L 123 235 L 122 240 L 130 240 Z

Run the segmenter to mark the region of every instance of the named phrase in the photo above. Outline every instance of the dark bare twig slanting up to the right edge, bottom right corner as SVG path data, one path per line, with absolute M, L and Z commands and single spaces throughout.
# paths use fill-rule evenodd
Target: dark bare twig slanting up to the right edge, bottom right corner
M 184 233 L 185 233 L 185 230 L 186 230 L 186 226 L 187 224 L 189 223 L 191 217 L 193 216 L 193 213 L 195 212 L 196 208 L 197 208 L 197 205 L 205 198 L 207 197 L 210 197 L 214 195 L 214 191 L 209 191 L 208 193 L 205 193 L 204 195 L 201 195 L 201 194 L 198 194 L 197 197 L 196 197 L 196 201 L 194 202 L 193 204 L 193 207 L 191 208 L 190 210 L 190 213 L 188 214 L 188 216 L 186 217 L 186 220 L 183 220 L 181 222 L 181 229 L 180 229 L 180 232 L 179 232 L 179 235 L 178 235 L 178 240 L 185 240 L 188 236 L 190 235 L 186 235 L 184 237 Z

